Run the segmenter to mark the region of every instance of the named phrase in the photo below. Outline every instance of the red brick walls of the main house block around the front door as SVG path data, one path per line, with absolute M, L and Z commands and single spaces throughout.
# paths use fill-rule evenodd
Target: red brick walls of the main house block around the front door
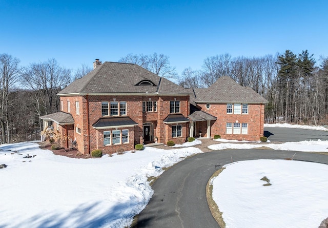
M 165 119 L 170 114 L 170 101 L 180 100 L 180 112 L 183 116 L 187 117 L 189 113 L 189 96 L 69 96 L 69 97 L 60 97 L 60 100 L 63 100 L 63 112 L 68 112 L 67 110 L 67 101 L 70 101 L 70 113 L 72 114 L 75 125 L 74 125 L 74 139 L 76 139 L 78 144 L 78 150 L 81 153 L 90 153 L 93 149 L 103 148 L 104 153 L 115 153 L 113 151 L 127 149 L 131 150 L 134 148 L 135 144 L 143 143 L 143 127 L 142 124 L 145 122 L 153 123 L 154 136 L 158 136 L 158 142 L 166 143 L 171 140 L 172 132 L 171 129 L 167 132 L 166 124 L 163 123 Z M 89 102 L 87 102 L 87 99 Z M 103 131 L 96 130 L 92 127 L 94 123 L 101 117 L 101 102 L 103 101 L 126 101 L 127 102 L 127 115 L 136 123 L 138 126 L 135 126 L 132 129 L 129 129 L 129 143 L 122 145 L 113 145 L 113 146 L 103 146 L 103 141 L 100 139 L 103 138 Z M 157 112 L 152 113 L 142 113 L 142 101 L 157 101 Z M 79 101 L 79 113 L 76 114 L 75 101 Z M 87 107 L 89 106 L 89 108 Z M 89 115 L 89 119 L 88 119 Z M 89 124 L 88 124 L 89 120 Z M 81 134 L 76 132 L 76 128 L 81 129 Z M 108 129 L 111 130 L 111 129 Z M 89 131 L 89 138 L 88 138 Z M 183 125 L 183 135 L 181 139 L 187 137 L 186 125 Z M 189 132 L 188 132 L 189 134 Z M 175 139 L 177 140 L 177 139 Z M 90 144 L 88 146 L 88 142 Z M 112 148 L 111 148 L 112 147 Z M 110 148 L 110 149 L 109 149 Z M 120 148 L 120 149 L 117 149 Z

